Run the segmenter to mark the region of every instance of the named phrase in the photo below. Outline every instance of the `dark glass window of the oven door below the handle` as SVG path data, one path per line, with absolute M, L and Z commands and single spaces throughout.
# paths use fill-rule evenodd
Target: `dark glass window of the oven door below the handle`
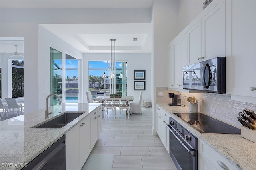
M 170 152 L 174 155 L 176 162 L 182 170 L 193 170 L 193 155 L 170 132 Z

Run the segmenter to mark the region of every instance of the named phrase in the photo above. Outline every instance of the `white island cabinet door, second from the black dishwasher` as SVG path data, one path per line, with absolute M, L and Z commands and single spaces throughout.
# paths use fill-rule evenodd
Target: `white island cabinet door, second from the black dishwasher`
M 88 158 L 91 151 L 91 120 L 88 117 L 85 121 L 82 122 L 83 126 L 80 126 L 81 132 L 81 158 L 82 158 L 82 166 L 84 165 L 86 159 Z

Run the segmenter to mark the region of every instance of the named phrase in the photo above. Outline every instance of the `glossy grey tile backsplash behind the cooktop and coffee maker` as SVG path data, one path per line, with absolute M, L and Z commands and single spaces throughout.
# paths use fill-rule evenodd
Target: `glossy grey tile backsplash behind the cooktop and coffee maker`
M 157 96 L 158 92 L 164 92 L 164 96 Z M 201 99 L 198 108 L 200 113 L 210 115 L 211 117 L 239 128 L 241 124 L 236 118 L 238 117 L 238 113 L 240 111 L 247 108 L 256 112 L 255 104 L 231 100 L 230 94 L 184 93 L 168 90 L 168 88 L 165 87 L 156 87 L 156 102 L 171 103 L 171 98 L 168 97 L 168 93 L 181 94 L 181 102 L 182 105 L 185 106 L 189 106 L 189 102 L 186 100 L 186 98 L 183 98 L 186 94 L 188 96 L 196 96 L 196 99 Z

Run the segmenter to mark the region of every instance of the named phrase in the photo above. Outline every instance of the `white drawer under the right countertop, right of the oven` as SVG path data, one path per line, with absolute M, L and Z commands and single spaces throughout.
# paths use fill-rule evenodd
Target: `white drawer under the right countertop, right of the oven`
M 198 151 L 204 156 L 216 169 L 224 169 L 227 167 L 229 170 L 238 170 L 234 164 L 226 160 L 224 156 L 217 153 L 214 149 L 208 146 L 206 143 L 198 140 Z M 199 160 L 200 161 L 200 160 Z

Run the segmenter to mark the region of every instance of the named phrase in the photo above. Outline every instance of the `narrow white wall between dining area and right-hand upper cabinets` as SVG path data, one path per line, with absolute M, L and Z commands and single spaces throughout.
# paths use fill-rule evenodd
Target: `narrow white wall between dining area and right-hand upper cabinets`
M 154 1 L 152 9 L 153 23 L 153 68 L 154 68 L 154 87 L 151 91 L 154 96 L 155 88 L 165 87 L 167 84 L 167 45 L 178 34 L 178 2 L 177 1 Z M 156 107 L 153 107 L 153 127 L 152 133 L 156 134 Z

